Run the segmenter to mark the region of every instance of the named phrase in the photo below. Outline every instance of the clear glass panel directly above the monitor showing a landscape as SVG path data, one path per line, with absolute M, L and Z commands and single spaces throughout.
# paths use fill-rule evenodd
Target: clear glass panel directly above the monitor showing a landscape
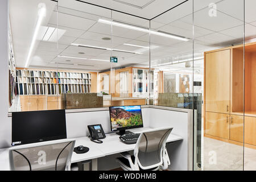
M 146 105 L 150 93 L 149 20 L 112 11 L 112 105 Z

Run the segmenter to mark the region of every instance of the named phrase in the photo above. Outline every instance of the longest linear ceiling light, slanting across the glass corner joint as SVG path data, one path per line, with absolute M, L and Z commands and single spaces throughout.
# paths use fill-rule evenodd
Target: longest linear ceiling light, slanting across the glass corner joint
M 171 35 L 171 34 L 164 34 L 163 32 L 158 32 L 158 31 L 147 29 L 147 28 L 131 26 L 131 25 L 125 24 L 125 23 L 113 22 L 113 21 L 109 21 L 109 20 L 106 20 L 106 19 L 98 19 L 98 22 L 106 23 L 106 24 L 112 24 L 113 26 L 117 26 L 117 27 L 129 28 L 131 30 L 147 32 L 147 33 L 150 33 L 150 34 L 153 34 L 153 35 L 164 36 L 166 38 L 182 40 L 182 41 L 188 41 L 188 39 L 182 38 L 180 36 L 175 36 L 175 35 Z

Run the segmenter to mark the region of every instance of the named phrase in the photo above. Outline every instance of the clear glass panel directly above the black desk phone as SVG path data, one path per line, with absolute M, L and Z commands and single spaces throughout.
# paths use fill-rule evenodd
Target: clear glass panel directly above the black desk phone
M 108 107 L 112 92 L 110 56 L 112 11 L 84 2 L 59 1 L 58 26 L 68 31 L 65 44 L 55 58 L 67 76 L 68 92 L 61 93 L 61 108 Z M 67 64 L 68 63 L 68 64 Z

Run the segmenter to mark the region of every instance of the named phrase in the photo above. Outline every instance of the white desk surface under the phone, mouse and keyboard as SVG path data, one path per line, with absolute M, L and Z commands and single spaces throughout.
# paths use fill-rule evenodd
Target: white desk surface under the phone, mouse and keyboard
M 141 128 L 130 130 L 133 133 L 141 133 L 150 128 Z M 174 134 L 170 134 L 167 142 L 182 140 L 183 138 Z M 101 158 L 106 155 L 118 154 L 120 152 L 134 150 L 135 144 L 125 144 L 119 140 L 119 135 L 115 133 L 106 134 L 106 138 L 102 139 L 103 143 L 94 143 L 89 137 L 76 138 L 77 146 L 89 147 L 89 151 L 85 154 L 76 154 L 73 152 L 71 162 L 76 163 L 84 160 Z M 0 149 L 0 171 L 10 170 L 9 166 L 9 148 Z

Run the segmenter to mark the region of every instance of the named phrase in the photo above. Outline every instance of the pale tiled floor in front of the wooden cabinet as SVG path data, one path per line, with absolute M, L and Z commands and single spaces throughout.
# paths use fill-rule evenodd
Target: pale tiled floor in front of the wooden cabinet
M 254 149 L 203 137 L 202 150 L 203 170 L 256 170 Z

